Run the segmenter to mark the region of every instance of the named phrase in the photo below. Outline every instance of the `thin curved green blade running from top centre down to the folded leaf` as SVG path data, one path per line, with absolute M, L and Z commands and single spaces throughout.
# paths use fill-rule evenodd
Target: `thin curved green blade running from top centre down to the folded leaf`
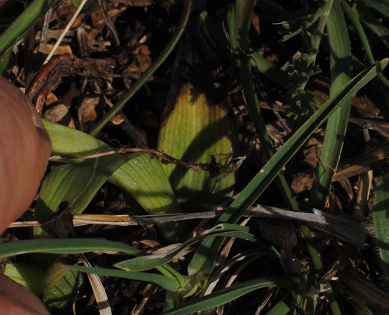
M 108 112 L 100 119 L 100 121 L 97 121 L 97 123 L 93 126 L 93 128 L 89 131 L 90 135 L 97 135 L 97 132 L 102 130 L 104 125 L 108 123 L 113 116 L 115 116 L 120 109 L 125 106 L 125 104 L 129 101 L 130 98 L 138 91 L 138 89 L 141 89 L 143 84 L 147 82 L 147 80 L 152 76 L 152 74 L 161 66 L 162 63 L 166 60 L 166 58 L 170 55 L 170 53 L 173 51 L 175 45 L 177 45 L 178 40 L 180 40 L 180 37 L 182 35 L 182 32 L 185 29 L 186 23 L 189 20 L 189 15 L 191 13 L 191 0 L 184 0 L 182 1 L 182 14 L 180 17 L 180 21 L 177 24 L 177 27 L 173 33 L 173 36 L 170 38 L 162 52 L 157 56 L 157 59 L 154 60 L 152 65 L 146 70 L 143 75 L 134 83 L 134 85 L 131 86 L 131 88 L 123 93 L 122 97 L 116 104 L 109 109 Z

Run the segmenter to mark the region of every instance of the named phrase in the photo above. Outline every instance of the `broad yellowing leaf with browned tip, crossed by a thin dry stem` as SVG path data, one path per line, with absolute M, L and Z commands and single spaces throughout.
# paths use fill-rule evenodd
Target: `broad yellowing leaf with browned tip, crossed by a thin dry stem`
M 191 84 L 184 84 L 159 130 L 158 150 L 185 162 L 228 167 L 235 153 L 235 121 Z M 170 162 L 164 170 L 182 208 L 198 211 L 217 206 L 234 191 L 235 176 L 210 176 Z

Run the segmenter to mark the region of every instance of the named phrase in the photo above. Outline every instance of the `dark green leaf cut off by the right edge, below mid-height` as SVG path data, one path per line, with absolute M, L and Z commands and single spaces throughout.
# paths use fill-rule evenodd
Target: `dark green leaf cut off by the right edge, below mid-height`
M 389 175 L 381 176 L 376 184 L 373 204 L 373 224 L 376 246 L 386 279 L 389 279 Z

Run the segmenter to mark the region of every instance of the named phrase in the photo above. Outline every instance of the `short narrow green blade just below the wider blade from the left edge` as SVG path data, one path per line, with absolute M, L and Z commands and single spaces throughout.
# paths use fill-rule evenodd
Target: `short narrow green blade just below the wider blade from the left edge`
M 78 272 L 93 273 L 94 275 L 102 275 L 106 277 L 119 277 L 125 279 L 132 279 L 144 282 L 151 282 L 161 286 L 161 288 L 170 291 L 177 292 L 180 289 L 180 285 L 175 279 L 170 279 L 164 275 L 158 275 L 155 273 L 146 272 L 131 272 L 107 268 L 90 268 L 84 266 L 67 266 L 70 270 Z

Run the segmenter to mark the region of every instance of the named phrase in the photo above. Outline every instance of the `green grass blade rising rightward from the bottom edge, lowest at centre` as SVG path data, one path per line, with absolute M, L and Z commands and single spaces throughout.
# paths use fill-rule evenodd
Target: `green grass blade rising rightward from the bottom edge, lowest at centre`
M 278 286 L 282 288 L 289 288 L 288 277 L 262 277 L 260 279 L 248 280 L 235 284 L 226 289 L 221 289 L 209 295 L 203 296 L 196 300 L 185 302 L 185 304 L 169 309 L 164 312 L 164 315 L 183 315 L 200 312 L 206 309 L 212 309 L 219 305 L 231 302 L 240 298 L 242 295 L 255 291 L 257 289 L 267 288 L 269 286 Z

